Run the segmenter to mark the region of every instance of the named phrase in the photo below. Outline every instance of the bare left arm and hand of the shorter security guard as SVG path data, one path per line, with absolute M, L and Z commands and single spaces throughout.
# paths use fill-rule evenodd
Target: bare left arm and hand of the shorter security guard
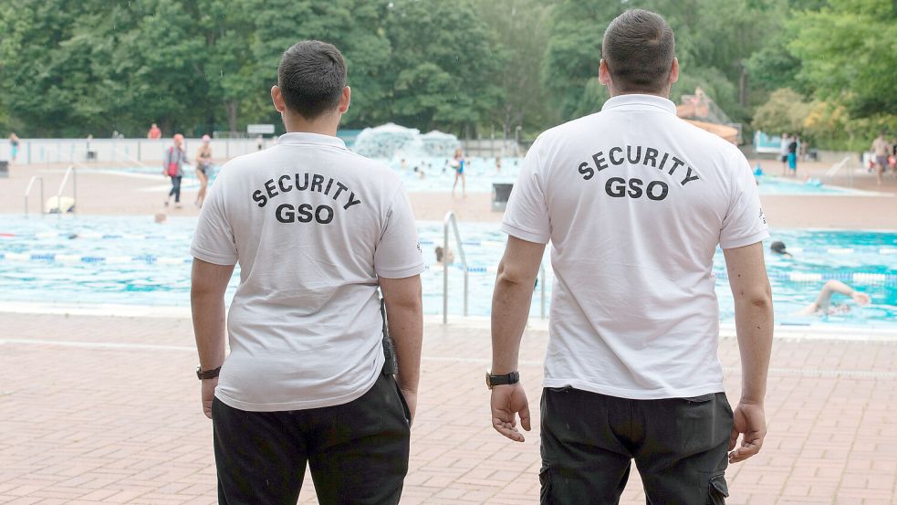
M 190 305 L 193 309 L 193 335 L 199 352 L 199 365 L 213 370 L 224 363 L 224 291 L 234 273 L 234 265 L 215 265 L 193 258 Z M 218 379 L 203 381 L 203 411 L 212 417 L 212 398 Z

